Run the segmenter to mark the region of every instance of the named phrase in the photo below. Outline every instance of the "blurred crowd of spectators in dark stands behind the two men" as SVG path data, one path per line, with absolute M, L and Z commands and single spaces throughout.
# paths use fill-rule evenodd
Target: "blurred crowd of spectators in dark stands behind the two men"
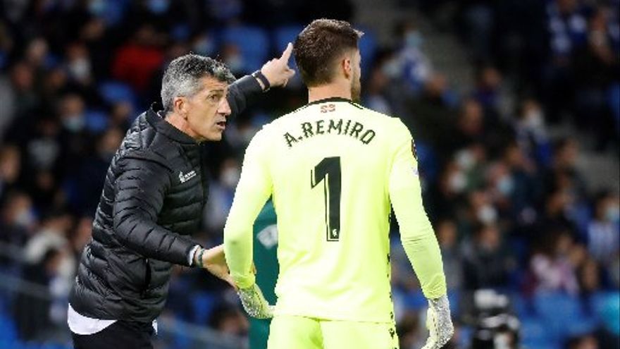
M 570 315 L 588 326 L 558 324 L 553 336 L 532 339 L 556 345 L 545 348 L 617 348 L 616 313 L 599 318 L 590 305 L 620 288 L 620 196 L 591 188 L 577 161 L 583 152 L 609 161 L 620 154 L 619 1 L 395 2 L 454 32 L 476 71 L 471 90 L 459 92 L 433 65 L 425 49 L 433 43 L 415 22 L 395 25 L 391 46 L 364 27 L 362 104 L 402 118 L 416 140 L 459 324 L 451 348 L 469 347 L 489 289 L 507 295 L 522 329 L 548 323 L 547 295 L 578 303 Z M 49 293 L 0 290 L 0 323 L 8 318 L 23 340 L 66 328 L 66 297 L 107 166 L 135 116 L 159 101 L 168 61 L 193 51 L 240 77 L 309 20 L 352 20 L 355 10 L 347 0 L 0 1 L 0 271 Z M 197 239 L 221 242 L 252 135 L 304 103 L 292 81 L 207 145 L 211 188 Z M 552 137 L 558 125 L 572 133 Z M 392 235 L 401 348 L 419 348 L 426 303 L 397 226 Z M 165 316 L 247 333 L 229 288 L 200 271 L 173 277 Z

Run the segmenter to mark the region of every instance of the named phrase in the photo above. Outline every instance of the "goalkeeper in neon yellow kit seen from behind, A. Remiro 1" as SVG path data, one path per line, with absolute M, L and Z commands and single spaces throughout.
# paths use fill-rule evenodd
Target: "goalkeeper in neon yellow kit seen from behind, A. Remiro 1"
M 439 246 L 422 204 L 411 133 L 360 97 L 361 32 L 315 20 L 294 42 L 309 103 L 247 147 L 224 229 L 230 274 L 248 313 L 273 315 L 269 349 L 398 348 L 390 293 L 390 205 L 428 298 L 425 349 L 452 336 Z M 273 196 L 278 302 L 252 271 L 252 224 Z

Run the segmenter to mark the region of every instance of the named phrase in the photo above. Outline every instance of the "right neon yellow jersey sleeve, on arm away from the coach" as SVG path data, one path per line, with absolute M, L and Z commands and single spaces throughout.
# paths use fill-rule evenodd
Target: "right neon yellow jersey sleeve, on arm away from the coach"
M 428 299 L 445 295 L 446 282 L 437 238 L 422 202 L 415 145 L 407 127 L 398 121 L 390 170 L 389 193 L 400 227 L 402 246 Z

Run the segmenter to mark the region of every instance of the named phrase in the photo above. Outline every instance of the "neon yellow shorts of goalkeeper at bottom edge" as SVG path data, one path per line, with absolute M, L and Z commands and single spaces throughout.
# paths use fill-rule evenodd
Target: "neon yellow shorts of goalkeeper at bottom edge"
M 271 320 L 268 349 L 398 349 L 394 324 L 281 315 Z

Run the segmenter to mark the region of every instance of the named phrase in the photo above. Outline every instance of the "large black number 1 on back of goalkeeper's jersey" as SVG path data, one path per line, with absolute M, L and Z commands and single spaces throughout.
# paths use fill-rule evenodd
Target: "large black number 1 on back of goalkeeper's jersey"
M 340 239 L 340 157 L 326 157 L 311 171 L 311 188 L 323 181 L 327 240 Z

